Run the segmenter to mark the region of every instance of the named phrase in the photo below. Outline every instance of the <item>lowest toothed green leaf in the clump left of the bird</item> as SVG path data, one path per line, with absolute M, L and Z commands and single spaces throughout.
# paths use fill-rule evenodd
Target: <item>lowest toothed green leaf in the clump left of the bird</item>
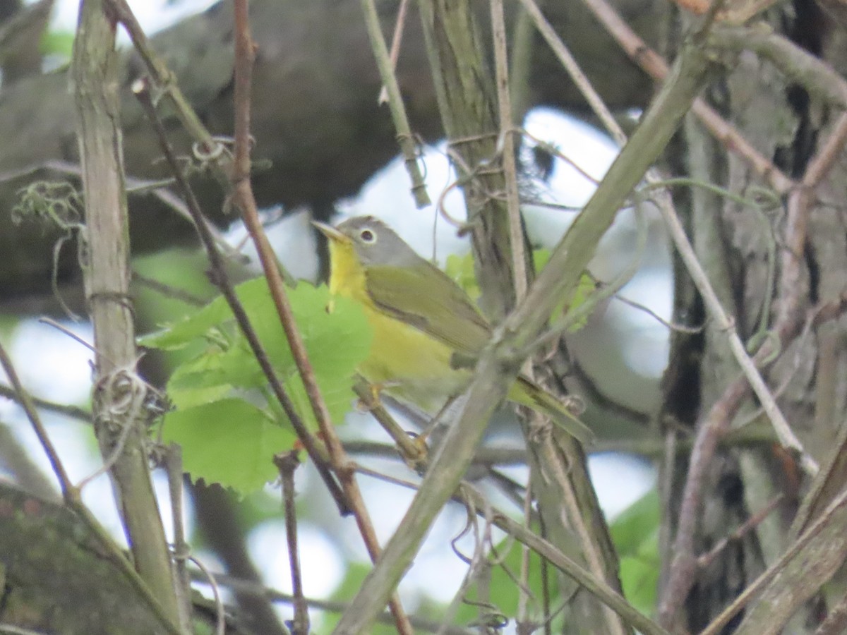
M 294 433 L 241 399 L 222 399 L 169 412 L 163 440 L 183 447 L 191 478 L 250 492 L 276 478 L 274 453 L 290 450 Z

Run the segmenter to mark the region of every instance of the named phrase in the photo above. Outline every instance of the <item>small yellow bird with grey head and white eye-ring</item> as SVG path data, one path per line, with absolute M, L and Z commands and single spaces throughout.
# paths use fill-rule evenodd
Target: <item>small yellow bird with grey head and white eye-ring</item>
M 398 399 L 433 412 L 468 388 L 491 326 L 467 293 L 372 216 L 337 227 L 313 223 L 329 239 L 329 291 L 359 303 L 374 342 L 359 372 Z M 545 415 L 580 441 L 594 435 L 559 400 L 518 376 L 508 399 Z

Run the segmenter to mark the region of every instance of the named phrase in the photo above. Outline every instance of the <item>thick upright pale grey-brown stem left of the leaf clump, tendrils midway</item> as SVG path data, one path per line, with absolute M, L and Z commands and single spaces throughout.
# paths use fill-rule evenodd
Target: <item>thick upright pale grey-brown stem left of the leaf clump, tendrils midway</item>
M 73 76 L 86 202 L 86 262 L 80 264 L 96 352 L 95 433 L 105 460 L 119 451 L 111 474 L 136 569 L 177 624 L 170 555 L 147 467 L 141 395 L 147 387 L 136 375 L 115 25 L 102 2 L 86 0 L 80 11 Z M 116 429 L 128 431 L 122 450 L 116 450 Z

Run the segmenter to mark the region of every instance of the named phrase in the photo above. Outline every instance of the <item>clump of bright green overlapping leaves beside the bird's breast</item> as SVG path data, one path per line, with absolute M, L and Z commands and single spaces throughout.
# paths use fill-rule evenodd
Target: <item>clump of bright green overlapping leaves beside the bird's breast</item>
M 298 417 L 307 428 L 317 428 L 265 280 L 258 278 L 239 284 L 235 292 Z M 329 416 L 333 422 L 340 423 L 354 400 L 352 378 L 368 356 L 372 329 L 361 307 L 353 301 L 333 298 L 333 311 L 328 312 L 330 295 L 325 286 L 316 288 L 300 283 L 288 290 L 288 297 Z M 170 439 L 175 434 L 178 438 L 174 440 L 182 444 L 185 466 L 192 478 L 221 483 L 242 493 L 261 487 L 262 478 L 274 478 L 276 472 L 270 457 L 274 452 L 291 448 L 294 435 L 224 298 L 216 298 L 168 329 L 147 335 L 141 341 L 148 347 L 163 350 L 200 351 L 174 369 L 168 382 L 168 395 L 177 409 L 163 422 L 165 437 Z M 235 403 L 242 406 L 234 406 Z M 211 419 L 219 417 L 221 404 L 230 409 L 229 414 L 236 407 L 243 408 L 238 414 L 247 421 L 247 428 L 242 429 L 241 422 L 233 417 L 231 428 L 225 428 L 230 434 L 224 434 L 219 423 L 214 424 L 217 434 L 212 437 L 203 432 L 211 425 Z M 285 425 L 284 430 L 280 423 Z M 172 426 L 179 427 L 178 433 L 169 429 Z M 188 428 L 200 431 L 190 433 Z M 280 436 L 283 431 L 285 434 Z M 246 446 L 243 435 L 249 434 L 257 434 L 258 439 Z M 259 439 L 273 440 L 273 447 L 265 442 L 258 444 Z M 280 439 L 287 439 L 287 443 L 280 445 Z M 226 456 L 234 446 L 246 455 L 248 474 L 241 478 L 234 478 L 230 471 L 217 467 L 219 457 Z M 255 465 L 256 461 L 264 461 L 261 469 Z

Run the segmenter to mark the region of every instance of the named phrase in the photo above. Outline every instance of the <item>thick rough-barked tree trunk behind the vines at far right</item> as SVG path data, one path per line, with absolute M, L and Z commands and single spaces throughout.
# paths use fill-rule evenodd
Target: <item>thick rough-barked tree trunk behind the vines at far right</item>
M 816 4 L 781 5 L 764 17 L 774 30 L 811 55 L 834 68 L 844 66 L 843 31 Z M 761 54 L 745 52 L 737 59 L 724 79 L 711 86 L 709 100 L 777 168 L 802 178 L 833 135 L 839 109 L 814 97 L 809 84 L 801 86 L 798 78 L 784 75 Z M 682 139 L 687 154 L 684 159 L 672 157 L 675 171 L 725 187 L 758 205 L 745 205 L 696 186 L 676 197 L 679 209 L 688 210 L 689 232 L 700 262 L 722 305 L 734 315 L 742 340 L 760 345 L 763 340 L 757 334 L 772 329 L 788 312 L 796 315 L 818 303 L 838 300 L 847 273 L 847 228 L 838 203 L 847 193 L 844 164 L 836 163 L 813 191 L 810 213 L 798 219 L 791 211 L 791 196 L 796 193 L 775 194 L 748 163 L 728 153 L 693 117 Z M 794 266 L 799 272 L 796 277 L 792 277 Z M 675 273 L 676 319 L 689 325 L 703 323 L 706 313 L 700 297 L 681 267 Z M 713 321 L 706 319 L 705 324 L 700 334 L 672 338 L 672 362 L 663 384 L 663 420 L 676 430 L 680 424 L 692 431 L 702 425 L 739 375 L 726 334 Z M 844 319 L 833 320 L 801 339 L 783 342 L 778 361 L 766 373 L 794 433 L 822 464 L 838 447 L 837 431 L 844 422 L 845 326 Z M 768 430 L 770 424 L 758 406 L 748 397 L 733 425 L 748 422 Z M 696 568 L 684 610 L 666 626 L 699 632 L 784 553 L 792 538 L 790 525 L 800 495 L 810 483 L 796 458 L 777 443 L 756 448 L 724 444 L 717 451 L 702 485 L 695 555 L 706 554 L 777 496 L 782 499 L 776 511 Z M 687 459 L 665 466 L 666 515 L 672 533 L 678 529 L 688 467 Z M 834 478 L 844 483 L 843 477 Z M 672 556 L 667 551 L 664 561 L 671 562 Z M 667 585 L 667 575 L 664 580 Z M 786 632 L 814 632 L 817 621 L 812 616 L 822 606 L 806 605 Z M 739 613 L 730 627 L 744 616 Z

